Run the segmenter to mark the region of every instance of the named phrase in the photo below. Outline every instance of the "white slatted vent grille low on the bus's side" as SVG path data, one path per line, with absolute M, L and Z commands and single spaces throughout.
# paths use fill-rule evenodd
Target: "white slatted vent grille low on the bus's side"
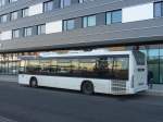
M 111 82 L 111 93 L 113 95 L 124 95 L 124 94 L 126 94 L 126 81 L 113 80 Z

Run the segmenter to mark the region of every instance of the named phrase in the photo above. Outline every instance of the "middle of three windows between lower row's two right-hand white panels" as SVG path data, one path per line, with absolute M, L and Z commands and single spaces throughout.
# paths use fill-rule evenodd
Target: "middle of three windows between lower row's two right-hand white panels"
M 83 17 L 83 27 L 96 26 L 96 15 Z

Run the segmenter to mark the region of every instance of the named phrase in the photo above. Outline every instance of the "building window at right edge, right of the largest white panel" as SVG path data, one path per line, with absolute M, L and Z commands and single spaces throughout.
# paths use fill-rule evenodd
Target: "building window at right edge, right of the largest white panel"
M 154 17 L 163 16 L 163 2 L 154 3 Z

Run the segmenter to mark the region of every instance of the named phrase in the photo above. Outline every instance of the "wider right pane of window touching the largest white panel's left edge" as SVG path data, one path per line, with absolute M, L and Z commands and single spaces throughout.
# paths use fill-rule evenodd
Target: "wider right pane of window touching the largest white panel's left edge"
M 112 23 L 121 23 L 122 22 L 122 11 L 113 11 L 112 12 Z

